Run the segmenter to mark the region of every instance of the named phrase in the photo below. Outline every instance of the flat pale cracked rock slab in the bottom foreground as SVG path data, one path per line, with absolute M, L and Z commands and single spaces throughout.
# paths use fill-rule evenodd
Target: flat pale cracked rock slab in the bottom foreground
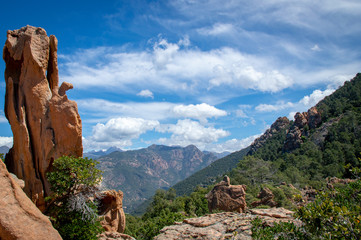
M 293 212 L 284 208 L 251 209 L 248 213 L 215 213 L 199 218 L 185 219 L 175 225 L 164 227 L 155 240 L 173 239 L 252 239 L 251 221 L 260 218 L 265 226 L 279 222 L 294 222 Z

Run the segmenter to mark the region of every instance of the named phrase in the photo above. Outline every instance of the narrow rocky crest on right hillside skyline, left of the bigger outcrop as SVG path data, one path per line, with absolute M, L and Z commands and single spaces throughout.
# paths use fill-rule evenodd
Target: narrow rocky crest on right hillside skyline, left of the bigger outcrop
M 251 144 L 251 149 L 249 154 L 254 153 L 257 149 L 262 147 L 266 141 L 271 138 L 275 133 L 279 132 L 281 129 L 285 129 L 290 123 L 287 117 L 279 117 L 269 129 L 266 130 L 262 136 L 254 140 Z

